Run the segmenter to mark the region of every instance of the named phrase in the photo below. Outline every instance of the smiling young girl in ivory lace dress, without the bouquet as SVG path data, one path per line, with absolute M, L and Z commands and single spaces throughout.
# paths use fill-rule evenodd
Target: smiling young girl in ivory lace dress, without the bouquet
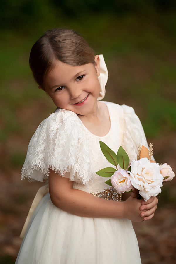
M 16 264 L 141 263 L 131 220 L 151 219 L 157 198 L 144 202 L 124 194 L 116 201 L 92 194 L 109 187 L 95 174 L 109 167 L 100 140 L 114 152 L 122 145 L 130 160 L 138 143 L 147 146 L 138 117 L 131 107 L 99 101 L 106 64 L 77 32 L 47 31 L 29 62 L 57 109 L 37 128 L 22 168 L 22 179 L 48 179 L 49 192 L 44 187 L 44 197 L 38 198 L 42 189 L 35 198 Z

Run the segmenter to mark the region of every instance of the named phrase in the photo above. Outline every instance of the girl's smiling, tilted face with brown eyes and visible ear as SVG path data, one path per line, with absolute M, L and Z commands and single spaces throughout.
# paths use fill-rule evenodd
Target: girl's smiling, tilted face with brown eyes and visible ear
M 96 111 L 100 93 L 98 55 L 95 62 L 96 65 L 70 66 L 56 61 L 54 69 L 45 78 L 45 91 L 57 107 L 84 116 Z

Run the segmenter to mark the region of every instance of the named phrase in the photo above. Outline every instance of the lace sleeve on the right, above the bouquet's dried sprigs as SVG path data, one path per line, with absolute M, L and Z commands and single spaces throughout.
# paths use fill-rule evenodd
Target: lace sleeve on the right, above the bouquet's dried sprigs
M 123 128 L 123 148 L 128 153 L 130 160 L 136 159 L 138 153 L 138 144 L 148 148 L 148 143 L 142 124 L 135 114 L 134 109 L 127 105 L 122 105 L 124 112 Z

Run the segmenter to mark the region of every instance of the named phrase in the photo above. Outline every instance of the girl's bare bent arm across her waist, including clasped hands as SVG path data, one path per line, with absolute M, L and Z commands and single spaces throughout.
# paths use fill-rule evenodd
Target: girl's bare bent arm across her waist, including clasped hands
M 134 199 L 132 196 L 125 202 L 105 200 L 87 192 L 73 189 L 74 182 L 70 181 L 67 177 L 69 177 L 69 173 L 66 173 L 65 177 L 62 177 L 54 171 L 50 171 L 50 198 L 52 203 L 58 208 L 82 217 L 128 218 L 135 222 L 143 221 L 143 217 L 140 216 L 140 200 Z M 156 208 L 154 206 L 144 212 L 144 210 L 148 209 L 146 206 L 143 205 L 142 213 L 145 218 L 150 219 Z

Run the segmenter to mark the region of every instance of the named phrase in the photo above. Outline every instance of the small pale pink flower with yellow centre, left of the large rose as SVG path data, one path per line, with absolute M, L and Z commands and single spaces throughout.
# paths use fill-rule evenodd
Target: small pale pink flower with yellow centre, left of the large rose
M 129 174 L 124 169 L 118 169 L 111 176 L 111 184 L 118 193 L 131 191 L 132 185 L 129 179 Z

